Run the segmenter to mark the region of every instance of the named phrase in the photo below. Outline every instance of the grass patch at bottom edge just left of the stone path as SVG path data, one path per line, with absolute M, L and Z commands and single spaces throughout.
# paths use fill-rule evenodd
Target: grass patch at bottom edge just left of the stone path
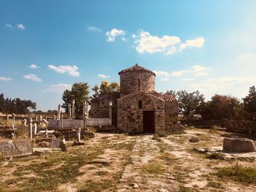
M 97 182 L 88 180 L 83 188 L 80 188 L 78 192 L 101 192 L 110 188 L 113 188 L 110 180 L 100 180 Z

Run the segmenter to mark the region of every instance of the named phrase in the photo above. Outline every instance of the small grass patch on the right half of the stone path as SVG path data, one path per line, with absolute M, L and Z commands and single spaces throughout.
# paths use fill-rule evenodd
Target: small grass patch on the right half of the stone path
M 165 168 L 162 164 L 157 162 L 151 162 L 140 166 L 140 174 L 153 174 L 154 176 L 157 176 L 159 174 L 164 174 L 164 172 Z

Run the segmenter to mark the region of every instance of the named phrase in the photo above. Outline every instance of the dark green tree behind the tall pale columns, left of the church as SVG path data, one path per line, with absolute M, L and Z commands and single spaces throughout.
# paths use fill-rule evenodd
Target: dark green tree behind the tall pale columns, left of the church
M 67 111 L 68 104 L 75 99 L 75 116 L 81 118 L 83 115 L 83 103 L 89 101 L 89 85 L 87 82 L 75 82 L 72 85 L 71 91 L 65 90 L 62 99 L 64 107 Z

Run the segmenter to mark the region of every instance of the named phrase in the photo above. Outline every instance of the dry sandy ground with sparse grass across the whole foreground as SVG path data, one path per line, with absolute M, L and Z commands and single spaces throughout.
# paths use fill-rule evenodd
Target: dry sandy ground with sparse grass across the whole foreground
M 255 169 L 256 161 L 209 159 L 193 150 L 221 148 L 228 135 L 197 128 L 161 139 L 96 134 L 84 146 L 68 142 L 66 153 L 1 160 L 0 191 L 256 191 L 255 177 L 217 174 L 237 164 Z

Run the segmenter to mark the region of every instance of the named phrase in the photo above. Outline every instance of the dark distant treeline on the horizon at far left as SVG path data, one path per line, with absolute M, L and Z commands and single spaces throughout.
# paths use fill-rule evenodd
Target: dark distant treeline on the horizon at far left
M 0 94 L 0 112 L 7 114 L 28 114 L 30 110 L 37 110 L 37 104 L 31 100 L 21 100 L 20 98 L 11 99 L 4 98 L 4 94 Z

